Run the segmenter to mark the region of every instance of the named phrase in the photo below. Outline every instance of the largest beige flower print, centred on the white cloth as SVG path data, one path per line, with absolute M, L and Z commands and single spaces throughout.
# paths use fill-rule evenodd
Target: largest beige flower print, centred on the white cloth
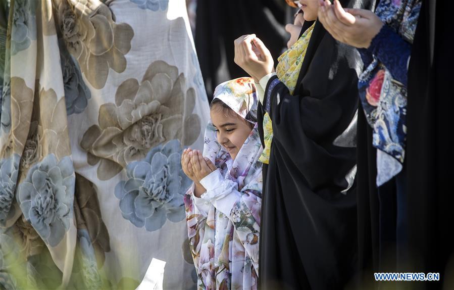
M 143 159 L 158 144 L 178 139 L 188 146 L 197 139 L 200 118 L 192 114 L 195 91 L 186 89 L 185 83 L 175 66 L 155 61 L 140 83 L 130 78 L 118 87 L 115 104 L 99 108 L 98 125 L 88 128 L 80 145 L 88 152 L 89 164 L 100 161 L 100 180 Z

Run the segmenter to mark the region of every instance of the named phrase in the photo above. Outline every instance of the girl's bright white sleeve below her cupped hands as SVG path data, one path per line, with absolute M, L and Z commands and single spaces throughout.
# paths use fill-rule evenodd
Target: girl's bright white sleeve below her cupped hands
M 201 179 L 200 184 L 207 189 L 200 199 L 211 202 L 217 210 L 230 216 L 233 206 L 241 197 L 238 184 L 225 180 L 219 169 Z

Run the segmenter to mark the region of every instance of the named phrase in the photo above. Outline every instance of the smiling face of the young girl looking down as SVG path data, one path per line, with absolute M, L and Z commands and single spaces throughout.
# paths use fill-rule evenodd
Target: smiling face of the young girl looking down
M 233 114 L 235 113 L 226 113 L 220 105 L 214 105 L 210 110 L 211 121 L 216 127 L 219 144 L 230 153 L 232 159 L 235 159 L 252 129 L 246 120 Z

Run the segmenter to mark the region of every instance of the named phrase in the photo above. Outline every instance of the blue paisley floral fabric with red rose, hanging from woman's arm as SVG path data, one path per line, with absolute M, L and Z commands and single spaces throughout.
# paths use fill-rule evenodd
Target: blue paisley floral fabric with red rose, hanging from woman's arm
M 366 66 L 358 87 L 378 150 L 377 186 L 397 175 L 405 160 L 407 63 L 420 8 L 421 0 L 382 0 L 375 13 L 385 26 L 367 51 L 360 50 Z

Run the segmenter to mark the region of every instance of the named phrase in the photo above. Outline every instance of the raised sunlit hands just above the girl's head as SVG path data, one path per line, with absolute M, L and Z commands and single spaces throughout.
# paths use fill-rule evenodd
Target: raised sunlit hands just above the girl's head
M 255 34 L 238 37 L 235 44 L 235 63 L 256 82 L 274 71 L 274 61 L 270 51 Z

